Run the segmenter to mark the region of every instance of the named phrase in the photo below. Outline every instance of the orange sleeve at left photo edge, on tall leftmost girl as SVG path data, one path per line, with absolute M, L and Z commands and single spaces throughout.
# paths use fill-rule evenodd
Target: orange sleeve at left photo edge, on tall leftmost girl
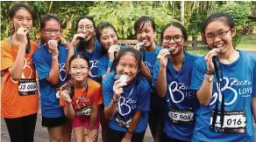
M 6 42 L 1 42 L 1 72 L 11 67 L 15 62 L 14 56 L 11 54 L 11 46 Z

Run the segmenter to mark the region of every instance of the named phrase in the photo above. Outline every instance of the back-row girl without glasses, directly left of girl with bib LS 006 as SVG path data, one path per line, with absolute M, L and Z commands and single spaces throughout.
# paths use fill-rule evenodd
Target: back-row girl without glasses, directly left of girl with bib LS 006
M 154 42 L 154 37 L 156 36 L 155 27 L 153 19 L 146 16 L 139 17 L 134 24 L 134 30 L 139 44 L 136 44 L 133 48 L 140 51 L 142 55 L 141 73 L 147 78 L 150 85 L 152 83 L 153 66 L 161 49 L 160 45 Z M 148 124 L 153 139 L 156 142 L 160 141 L 162 135 L 164 104 L 164 99 L 158 97 L 152 89 Z

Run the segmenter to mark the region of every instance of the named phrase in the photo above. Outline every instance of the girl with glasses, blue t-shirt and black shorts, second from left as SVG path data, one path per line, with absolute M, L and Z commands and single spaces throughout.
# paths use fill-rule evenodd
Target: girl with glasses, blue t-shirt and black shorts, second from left
M 39 75 L 42 125 L 49 132 L 50 141 L 70 141 L 71 125 L 60 105 L 59 88 L 68 81 L 65 62 L 68 50 L 61 44 L 59 17 L 46 14 L 40 19 L 39 50 L 32 60 Z

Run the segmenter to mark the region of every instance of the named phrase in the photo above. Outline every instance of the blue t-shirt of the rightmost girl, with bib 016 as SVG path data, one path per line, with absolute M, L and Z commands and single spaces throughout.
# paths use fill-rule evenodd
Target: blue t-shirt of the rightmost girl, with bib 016
M 224 77 L 224 87 L 221 87 L 224 92 L 224 111 L 245 112 L 245 122 L 243 119 L 238 120 L 239 124 L 245 125 L 245 133 L 216 132 L 210 130 L 210 115 L 215 108 L 217 88 L 219 88 L 217 87 L 217 82 L 214 82 L 210 104 L 207 106 L 200 105 L 197 112 L 192 141 L 254 141 L 251 101 L 253 97 L 256 97 L 256 57 L 244 51 L 239 51 L 239 54 L 238 59 L 231 64 L 222 64 L 219 61 L 217 61 L 217 64 L 221 65 Z M 205 71 L 206 63 L 204 57 L 200 57 L 194 64 L 190 89 L 196 91 L 200 89 L 203 84 Z M 214 78 L 217 79 L 216 76 Z M 219 111 L 220 104 L 219 101 Z M 228 115 L 225 115 L 224 118 L 226 116 L 228 117 Z M 231 122 L 234 122 L 234 120 L 236 119 L 231 118 Z

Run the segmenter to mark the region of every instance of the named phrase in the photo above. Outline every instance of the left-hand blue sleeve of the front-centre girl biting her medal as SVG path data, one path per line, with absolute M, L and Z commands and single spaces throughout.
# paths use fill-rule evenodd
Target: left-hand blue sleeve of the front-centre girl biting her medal
M 111 85 L 112 84 L 112 85 Z M 110 81 L 110 74 L 106 78 L 103 78 L 103 104 L 104 107 L 110 105 L 111 99 L 113 98 L 113 81 Z

